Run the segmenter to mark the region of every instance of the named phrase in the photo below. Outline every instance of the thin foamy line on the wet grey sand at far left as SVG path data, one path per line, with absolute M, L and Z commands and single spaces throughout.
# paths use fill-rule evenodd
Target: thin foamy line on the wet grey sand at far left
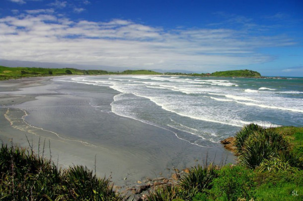
M 55 132 L 53 132 L 53 131 L 48 131 L 48 130 L 45 130 L 45 129 L 43 129 L 43 128 L 39 128 L 39 127 L 32 126 L 32 125 L 30 125 L 29 123 L 27 123 L 27 122 L 25 121 L 26 116 L 28 116 L 28 114 L 26 113 L 26 111 L 23 110 L 23 109 L 20 109 L 20 108 L 14 108 L 14 109 L 20 110 L 20 111 L 22 111 L 22 112 L 24 113 L 24 115 L 23 115 L 21 118 L 18 118 L 18 119 L 21 119 L 21 120 L 22 120 L 21 123 L 22 123 L 23 125 L 21 125 L 21 127 L 24 128 L 24 129 L 22 130 L 22 128 L 20 128 L 19 126 L 14 126 L 14 125 L 13 125 L 13 124 L 15 123 L 15 121 L 14 121 L 11 117 L 9 117 L 9 114 L 10 114 L 9 109 L 10 109 L 10 108 L 7 108 L 6 113 L 4 114 L 4 117 L 5 117 L 5 119 L 9 122 L 10 126 L 11 126 L 12 128 L 14 128 L 14 129 L 17 129 L 17 130 L 19 130 L 19 131 L 25 131 L 25 132 L 27 132 L 27 133 L 29 133 L 29 134 L 34 134 L 34 135 L 40 136 L 39 134 L 37 134 L 37 133 L 35 133 L 34 131 L 31 131 L 31 130 L 30 130 L 30 128 L 33 128 L 33 129 L 41 130 L 41 131 L 44 131 L 44 132 L 47 132 L 47 133 L 55 134 L 58 138 L 63 139 L 63 140 L 74 141 L 74 142 L 80 142 L 81 144 L 83 144 L 83 145 L 85 145 L 85 146 L 98 147 L 98 148 L 103 148 L 103 149 L 105 149 L 104 147 L 96 146 L 96 145 L 91 144 L 91 143 L 88 143 L 88 142 L 86 142 L 86 141 L 64 138 L 64 137 L 60 136 L 59 134 L 57 134 L 57 133 L 55 133 Z M 50 138 L 50 137 L 47 137 L 47 138 Z

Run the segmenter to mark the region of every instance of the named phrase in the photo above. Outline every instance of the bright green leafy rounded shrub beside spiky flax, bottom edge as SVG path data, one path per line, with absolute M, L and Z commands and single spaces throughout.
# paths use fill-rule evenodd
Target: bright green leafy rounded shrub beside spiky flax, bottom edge
M 224 166 L 214 179 L 210 197 L 213 200 L 236 201 L 239 198 L 250 200 L 254 194 L 254 173 L 243 166 Z

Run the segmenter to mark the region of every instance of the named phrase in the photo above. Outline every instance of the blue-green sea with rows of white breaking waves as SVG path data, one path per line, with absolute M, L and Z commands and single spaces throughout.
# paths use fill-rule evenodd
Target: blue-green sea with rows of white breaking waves
M 218 146 L 249 123 L 303 126 L 303 78 L 113 75 L 57 80 L 115 90 L 108 112 L 172 131 L 198 146 Z M 102 111 L 98 99 L 89 104 Z

